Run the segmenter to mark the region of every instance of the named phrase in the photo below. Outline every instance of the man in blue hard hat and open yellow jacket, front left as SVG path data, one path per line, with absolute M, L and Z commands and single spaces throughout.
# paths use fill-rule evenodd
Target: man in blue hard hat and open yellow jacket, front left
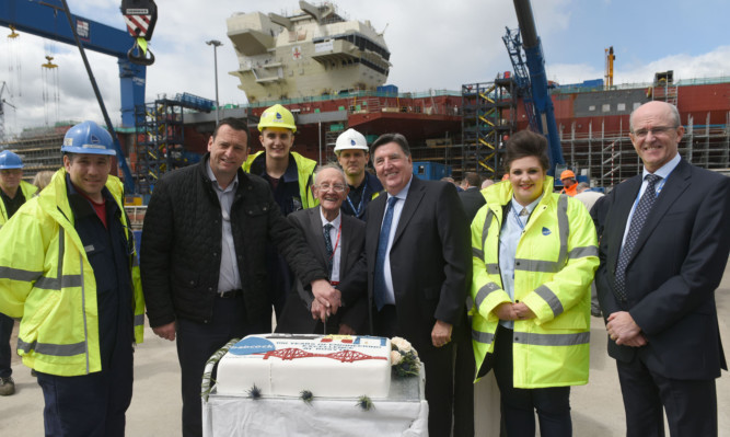
M 0 312 L 22 318 L 47 436 L 124 436 L 144 299 L 112 136 L 71 127 L 63 168 L 0 230 Z

